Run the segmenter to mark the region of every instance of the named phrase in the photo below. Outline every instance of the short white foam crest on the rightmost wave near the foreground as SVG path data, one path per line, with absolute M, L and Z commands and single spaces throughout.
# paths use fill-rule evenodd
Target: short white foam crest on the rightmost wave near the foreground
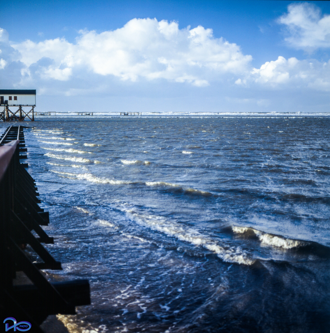
M 232 226 L 232 230 L 235 233 L 253 233 L 256 235 L 262 244 L 281 247 L 284 249 L 291 249 L 295 247 L 305 246 L 308 244 L 306 241 L 285 238 L 279 235 L 269 234 L 267 232 L 263 232 L 252 227 L 241 227 L 241 226 Z

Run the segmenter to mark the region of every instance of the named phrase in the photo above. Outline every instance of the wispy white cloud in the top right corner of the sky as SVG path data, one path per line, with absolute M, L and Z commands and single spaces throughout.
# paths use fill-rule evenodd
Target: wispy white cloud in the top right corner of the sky
M 297 49 L 314 51 L 330 47 L 330 15 L 321 17 L 321 10 L 310 3 L 288 6 L 288 13 L 281 16 L 289 36 L 286 42 Z

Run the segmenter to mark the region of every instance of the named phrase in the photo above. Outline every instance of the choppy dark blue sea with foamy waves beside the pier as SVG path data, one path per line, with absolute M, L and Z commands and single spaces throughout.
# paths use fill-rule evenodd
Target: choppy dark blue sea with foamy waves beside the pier
M 70 333 L 330 332 L 330 114 L 24 125 L 45 273 L 90 283 Z

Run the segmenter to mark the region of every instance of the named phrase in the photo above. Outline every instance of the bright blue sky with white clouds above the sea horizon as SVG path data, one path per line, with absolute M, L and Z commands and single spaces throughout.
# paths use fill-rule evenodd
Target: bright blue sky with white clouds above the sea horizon
M 36 111 L 330 112 L 330 1 L 0 0 Z

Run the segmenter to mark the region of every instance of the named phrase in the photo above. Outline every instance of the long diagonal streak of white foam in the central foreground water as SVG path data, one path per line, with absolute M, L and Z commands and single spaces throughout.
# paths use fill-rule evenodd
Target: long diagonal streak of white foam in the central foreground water
M 202 246 L 216 253 L 217 256 L 224 261 L 246 265 L 251 265 L 254 262 L 254 260 L 248 258 L 247 254 L 239 247 L 233 248 L 226 246 L 226 248 L 224 248 L 211 238 L 202 235 L 199 231 L 192 228 L 185 228 L 182 224 L 166 219 L 163 216 L 143 214 L 129 209 L 126 210 L 126 214 L 128 218 L 142 226 L 163 232 L 196 246 Z

